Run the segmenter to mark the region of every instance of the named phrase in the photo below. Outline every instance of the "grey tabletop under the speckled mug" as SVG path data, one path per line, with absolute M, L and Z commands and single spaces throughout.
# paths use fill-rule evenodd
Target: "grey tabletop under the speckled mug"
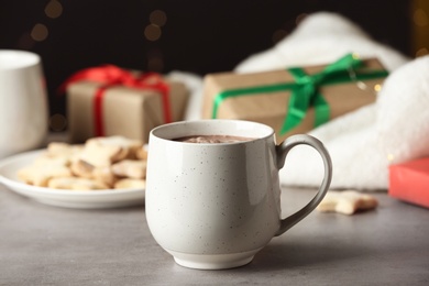
M 285 188 L 284 216 L 314 194 Z M 374 211 L 310 213 L 245 266 L 196 271 L 156 244 L 144 206 L 52 207 L 0 185 L 0 285 L 429 285 L 429 210 L 374 196 Z

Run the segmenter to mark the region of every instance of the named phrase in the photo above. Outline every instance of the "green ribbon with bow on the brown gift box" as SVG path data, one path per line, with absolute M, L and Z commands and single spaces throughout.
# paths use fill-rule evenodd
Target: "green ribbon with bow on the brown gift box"
M 330 108 L 319 91 L 320 86 L 336 85 L 352 80 L 367 80 L 386 77 L 386 70 L 358 70 L 363 65 L 354 54 L 348 54 L 333 64 L 328 65 L 320 73 L 307 75 L 302 68 L 293 67 L 287 70 L 293 75 L 295 82 L 282 82 L 258 87 L 238 88 L 219 92 L 215 97 L 211 118 L 216 119 L 219 106 L 230 97 L 252 96 L 290 90 L 290 99 L 280 134 L 298 125 L 307 114 L 309 107 L 315 108 L 315 127 L 327 122 L 330 118 Z

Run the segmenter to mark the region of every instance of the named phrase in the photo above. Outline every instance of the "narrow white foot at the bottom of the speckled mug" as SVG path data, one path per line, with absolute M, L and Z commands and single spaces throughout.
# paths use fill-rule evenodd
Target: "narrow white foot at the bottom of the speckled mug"
M 170 250 L 166 251 L 173 255 L 178 265 L 187 268 L 227 270 L 249 264 L 261 249 L 231 254 L 188 254 Z

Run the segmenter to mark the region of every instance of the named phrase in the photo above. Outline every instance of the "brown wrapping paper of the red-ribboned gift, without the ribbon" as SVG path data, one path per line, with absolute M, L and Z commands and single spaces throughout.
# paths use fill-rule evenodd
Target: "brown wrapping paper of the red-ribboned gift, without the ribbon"
M 182 82 L 168 81 L 172 120 L 184 118 L 189 91 Z M 67 120 L 72 143 L 82 143 L 95 134 L 94 97 L 101 85 L 79 81 L 67 88 Z M 108 88 L 102 98 L 106 136 L 122 135 L 147 142 L 150 131 L 164 124 L 158 91 L 124 86 Z

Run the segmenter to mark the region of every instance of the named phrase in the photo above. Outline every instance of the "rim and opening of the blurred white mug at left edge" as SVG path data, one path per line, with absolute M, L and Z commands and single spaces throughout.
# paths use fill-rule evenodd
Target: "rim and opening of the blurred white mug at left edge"
M 14 57 L 14 61 L 8 61 L 1 64 L 6 58 Z M 16 59 L 19 57 L 19 59 Z M 23 50 L 2 50 L 0 48 L 0 70 L 14 70 L 36 66 L 41 63 L 40 55 Z M 4 63 L 4 62 L 3 62 Z

